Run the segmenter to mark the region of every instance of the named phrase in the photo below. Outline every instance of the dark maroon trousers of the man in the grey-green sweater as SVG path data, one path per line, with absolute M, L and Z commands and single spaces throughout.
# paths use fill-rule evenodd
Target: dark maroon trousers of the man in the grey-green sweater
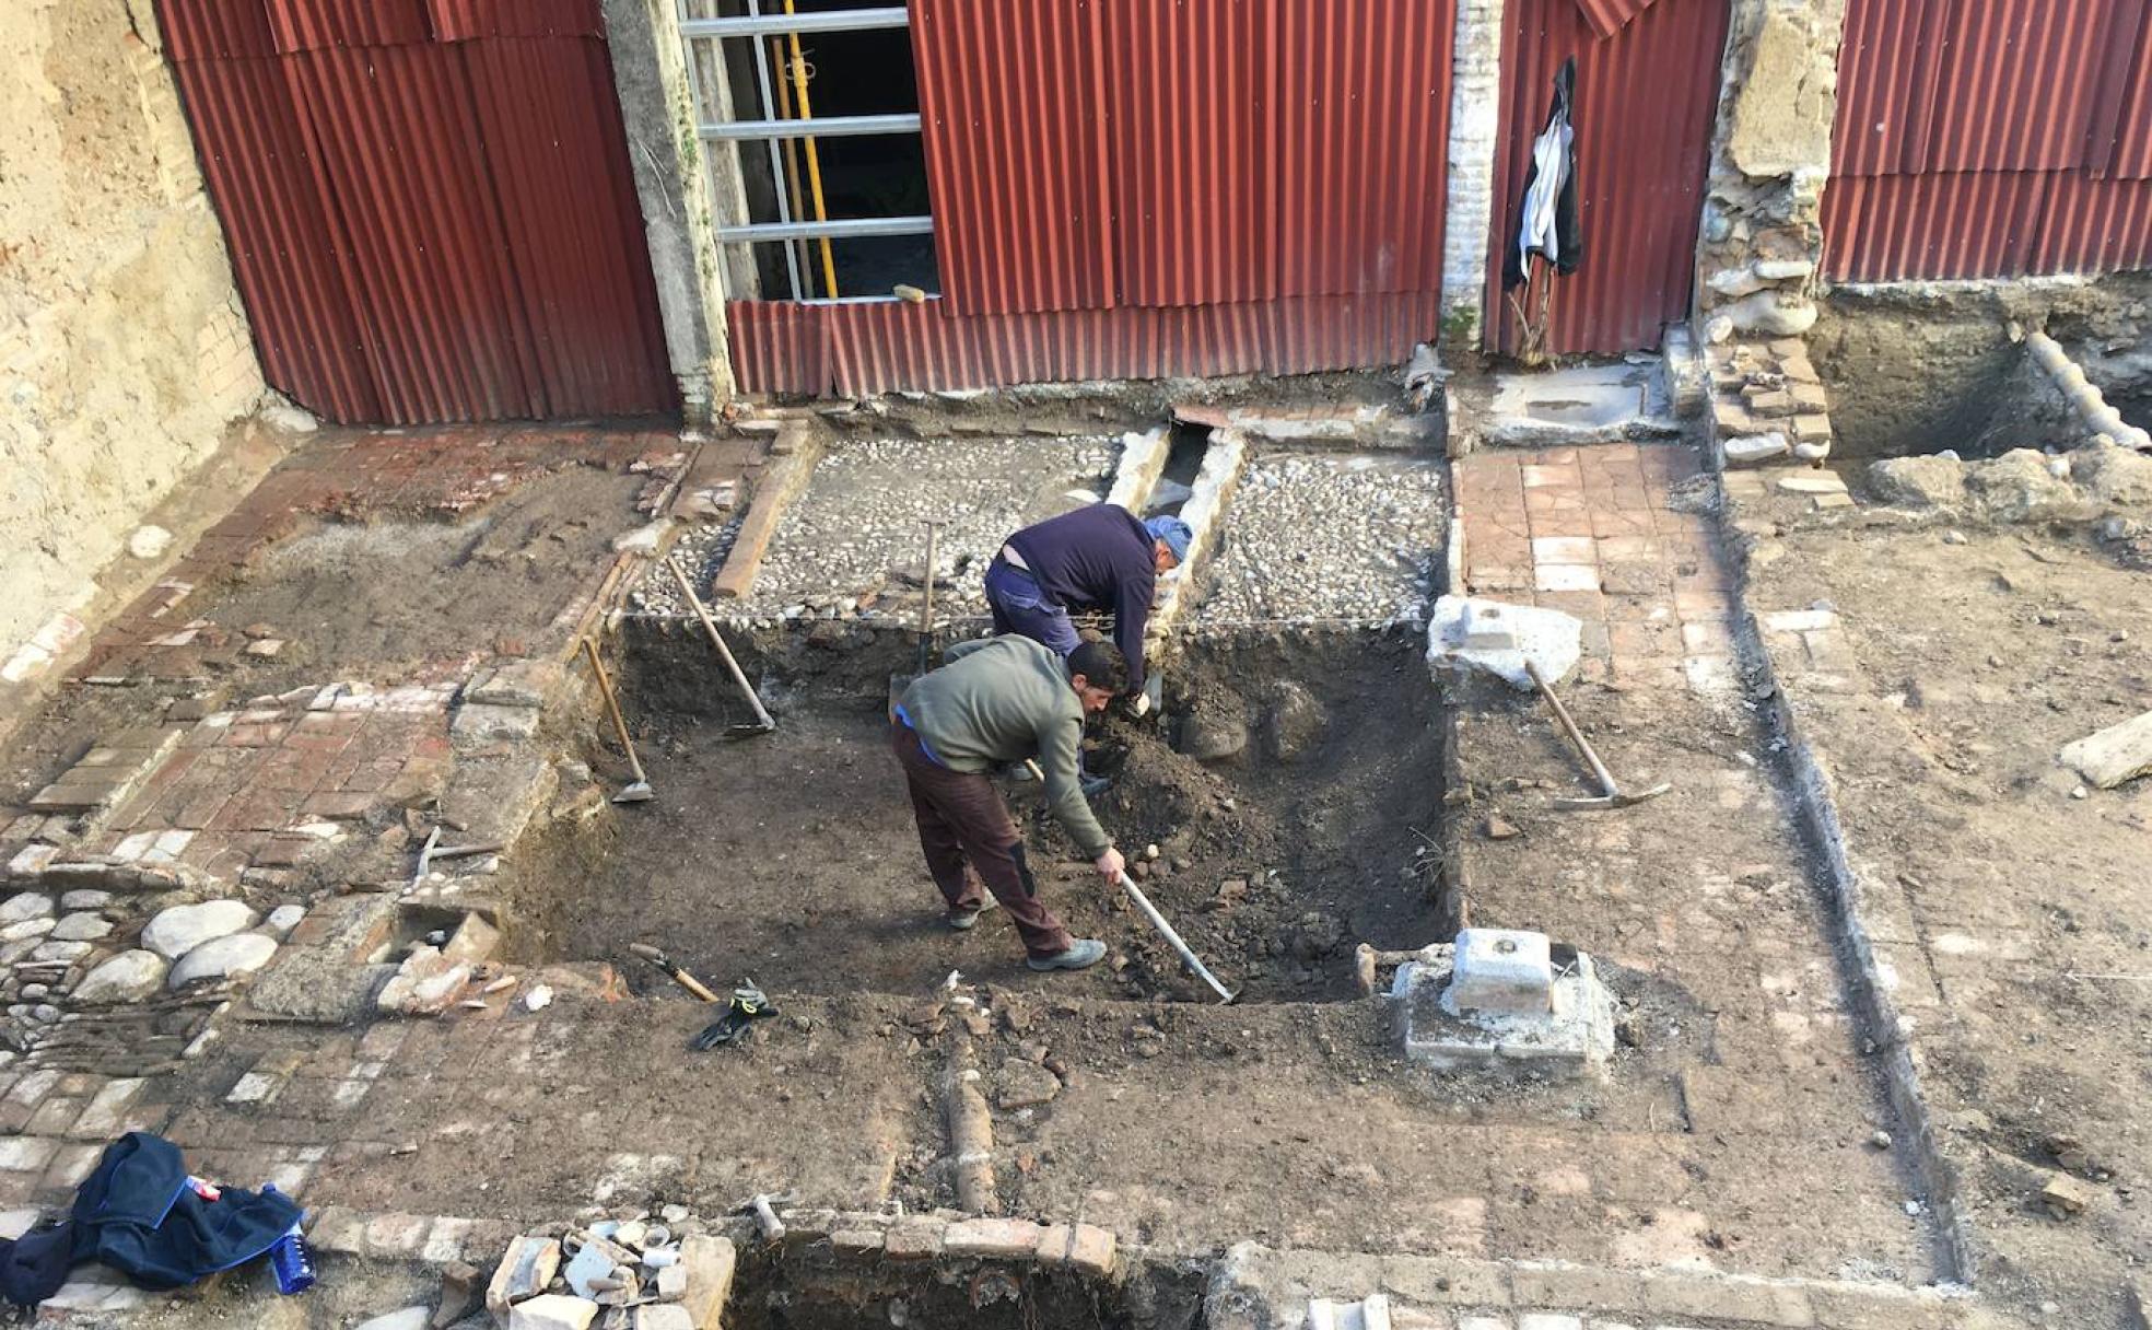
M 1024 951 L 1031 956 L 1067 951 L 1070 930 L 1061 928 L 1046 902 L 1024 895 L 1024 874 L 1018 869 L 1024 839 L 1009 820 L 1009 805 L 1001 801 L 994 781 L 934 762 L 904 721 L 889 723 L 889 747 L 897 751 L 904 783 L 912 792 L 912 816 L 919 820 L 919 848 L 928 857 L 928 872 L 934 874 L 934 885 L 940 887 L 949 908 L 983 906 L 979 882 L 986 882 L 1024 938 Z M 964 874 L 966 861 L 979 874 L 977 882 Z

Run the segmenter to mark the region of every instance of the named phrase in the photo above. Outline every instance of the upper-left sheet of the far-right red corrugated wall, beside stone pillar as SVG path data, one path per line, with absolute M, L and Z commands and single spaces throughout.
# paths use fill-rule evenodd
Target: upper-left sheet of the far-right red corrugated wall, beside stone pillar
M 1838 52 L 1838 123 L 1831 174 L 1881 176 L 1905 168 L 1935 105 L 1937 0 L 1851 0 Z

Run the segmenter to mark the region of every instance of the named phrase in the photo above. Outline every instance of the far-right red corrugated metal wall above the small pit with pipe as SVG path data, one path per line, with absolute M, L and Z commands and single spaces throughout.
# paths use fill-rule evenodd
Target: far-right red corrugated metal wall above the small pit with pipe
M 2152 265 L 2152 0 L 1851 0 L 1838 280 Z

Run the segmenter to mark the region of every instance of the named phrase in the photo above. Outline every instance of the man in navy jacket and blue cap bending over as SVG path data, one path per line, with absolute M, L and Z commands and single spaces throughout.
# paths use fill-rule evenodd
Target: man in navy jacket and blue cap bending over
M 1136 521 L 1128 508 L 1087 504 L 1009 536 L 986 570 L 994 633 L 1022 633 L 1061 656 L 1076 650 L 1070 609 L 1110 609 L 1128 659 L 1128 691 L 1143 689 L 1143 628 L 1158 575 L 1188 557 L 1192 532 L 1177 517 Z

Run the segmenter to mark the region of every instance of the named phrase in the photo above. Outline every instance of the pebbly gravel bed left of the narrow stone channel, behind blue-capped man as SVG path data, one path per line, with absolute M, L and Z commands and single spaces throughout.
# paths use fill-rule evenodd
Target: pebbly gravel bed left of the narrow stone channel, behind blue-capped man
M 783 514 L 762 557 L 755 594 L 712 607 L 732 620 L 880 618 L 895 570 L 925 557 L 925 519 L 940 529 L 936 590 L 943 622 L 986 618 L 981 579 L 1009 532 L 1102 497 L 1119 439 L 874 439 L 837 443 Z M 686 566 L 717 570 L 738 523 L 682 540 Z M 631 596 L 650 613 L 686 613 L 671 575 L 654 568 Z

